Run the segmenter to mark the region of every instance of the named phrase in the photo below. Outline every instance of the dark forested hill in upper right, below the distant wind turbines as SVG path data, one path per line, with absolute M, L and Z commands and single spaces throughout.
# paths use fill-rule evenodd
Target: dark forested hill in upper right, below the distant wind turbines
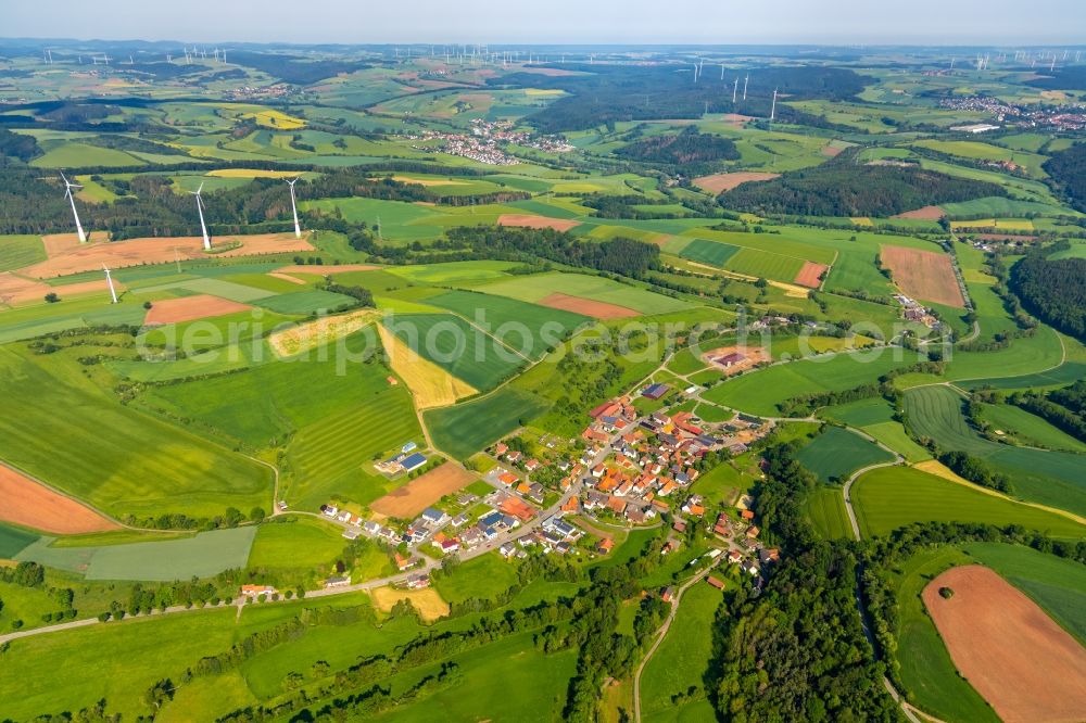
M 922 168 L 855 163 L 856 154 L 849 149 L 815 168 L 741 183 L 720 202 L 758 215 L 885 217 L 932 204 L 1007 195 L 996 183 Z

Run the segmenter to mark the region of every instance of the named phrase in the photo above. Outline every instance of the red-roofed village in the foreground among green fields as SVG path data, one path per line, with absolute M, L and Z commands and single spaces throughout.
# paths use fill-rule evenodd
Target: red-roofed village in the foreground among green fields
M 496 551 L 507 559 L 540 554 L 589 561 L 609 555 L 627 531 L 661 525 L 668 528 L 661 554 L 678 553 L 691 535 L 699 536 L 708 541 L 709 560 L 727 554 L 721 562 L 760 584 L 779 553 L 759 542 L 750 497 L 712 504 L 692 487 L 707 455 L 714 464 L 742 455 L 773 423 L 736 415 L 710 424 L 670 409 L 696 391 L 647 383 L 637 391 L 640 402 L 656 406 L 666 397 L 672 404 L 642 414 L 639 399 L 611 399 L 586 411 L 589 422 L 574 440 L 543 435 L 528 444 L 510 435 L 485 451 L 490 464 L 481 479 L 409 520 L 350 503 L 326 504 L 320 515 L 342 527 L 346 540 L 365 537 L 388 549 L 399 573 L 392 584 L 409 589 L 429 586 L 429 571 L 449 556 L 464 561 Z M 375 468 L 394 477 L 425 462 L 408 442 Z M 341 575 L 325 581 L 326 588 L 350 584 Z

